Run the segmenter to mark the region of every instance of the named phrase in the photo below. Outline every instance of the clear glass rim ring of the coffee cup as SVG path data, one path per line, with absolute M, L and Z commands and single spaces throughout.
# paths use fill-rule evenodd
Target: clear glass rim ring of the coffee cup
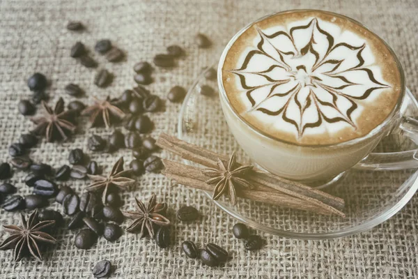
M 398 100 L 397 100 L 396 104 L 394 105 L 394 107 L 392 108 L 392 111 L 388 114 L 387 118 L 384 121 L 382 121 L 378 126 L 373 128 L 369 133 L 367 133 L 366 135 L 363 135 L 362 137 L 355 137 L 352 140 L 347 140 L 345 142 L 337 142 L 337 143 L 334 143 L 334 144 L 299 144 L 297 142 L 288 142 L 286 140 L 282 140 L 282 139 L 274 137 L 274 136 L 272 136 L 268 133 L 265 133 L 262 130 L 259 130 L 258 128 L 256 128 L 251 123 L 248 123 L 247 121 L 245 121 L 245 119 L 243 119 L 242 116 L 235 110 L 235 107 L 233 107 L 233 105 L 231 105 L 231 102 L 230 102 L 228 96 L 226 96 L 226 91 L 225 91 L 224 82 L 223 82 L 222 68 L 224 66 L 224 62 L 225 62 L 225 59 L 226 59 L 226 54 L 228 54 L 229 50 L 231 49 L 231 46 L 233 45 L 233 43 L 235 43 L 235 40 L 237 40 L 238 37 L 240 37 L 242 33 L 247 31 L 247 29 L 249 29 L 251 26 L 253 26 L 257 22 L 261 22 L 262 20 L 265 20 L 265 19 L 267 19 L 269 17 L 272 17 L 274 15 L 280 15 L 280 14 L 286 14 L 286 13 L 295 13 L 295 12 L 309 12 L 309 11 L 327 13 L 329 15 L 334 15 L 336 17 L 343 17 L 346 20 L 350 20 L 351 22 L 354 22 L 355 24 L 359 25 L 360 27 L 363 27 L 367 31 L 373 33 L 373 35 L 376 36 L 383 43 L 383 45 L 385 45 L 385 47 L 387 47 L 390 54 L 392 54 L 392 56 L 394 57 L 394 61 L 396 63 L 396 66 L 398 68 L 399 75 L 400 75 L 400 78 L 401 78 L 401 93 L 399 93 Z M 233 114 L 237 117 L 237 119 L 241 123 L 243 123 L 245 126 L 249 127 L 254 133 L 260 135 L 261 137 L 266 137 L 270 140 L 274 140 L 274 141 L 281 142 L 281 143 L 284 143 L 284 144 L 290 144 L 290 145 L 293 145 L 293 146 L 301 146 L 301 147 L 310 147 L 310 148 L 350 146 L 350 145 L 353 145 L 353 144 L 357 144 L 358 142 L 368 140 L 371 137 L 374 137 L 375 135 L 377 135 L 382 130 L 382 128 L 387 126 L 387 124 L 393 119 L 396 112 L 398 112 L 400 110 L 401 104 L 403 102 L 403 98 L 405 96 L 405 76 L 404 76 L 404 72 L 403 72 L 403 67 L 402 67 L 401 61 L 399 61 L 398 56 L 396 55 L 396 53 L 394 52 L 392 47 L 385 40 L 380 38 L 380 36 L 378 36 L 375 32 L 371 31 L 371 29 L 364 26 L 364 24 L 362 24 L 361 22 L 359 22 L 357 20 L 353 20 L 351 17 L 347 17 L 346 15 L 341 15 L 339 13 L 333 13 L 333 12 L 330 12 L 330 11 L 327 11 L 327 10 L 318 10 L 318 9 L 284 10 L 284 11 L 281 11 L 281 12 L 276 12 L 276 13 L 271 13 L 269 15 L 265 15 L 263 17 L 258 18 L 258 20 L 255 20 L 254 22 L 251 22 L 251 23 L 247 24 L 247 26 L 245 26 L 240 31 L 238 31 L 238 33 L 235 33 L 235 35 L 231 38 L 231 40 L 229 40 L 229 43 L 226 45 L 226 47 L 222 51 L 221 57 L 219 59 L 218 67 L 217 67 L 217 83 L 218 83 L 220 98 L 224 101 L 224 103 L 227 105 L 229 110 L 231 112 L 233 112 Z

